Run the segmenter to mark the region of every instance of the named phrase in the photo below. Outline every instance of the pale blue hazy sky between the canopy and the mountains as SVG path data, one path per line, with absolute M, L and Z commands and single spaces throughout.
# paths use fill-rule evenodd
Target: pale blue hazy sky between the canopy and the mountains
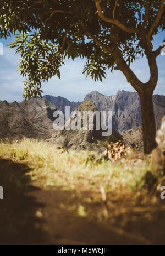
M 161 45 L 164 38 L 165 32 L 155 36 L 153 50 Z M 23 101 L 24 77 L 17 71 L 19 56 L 15 55 L 13 49 L 7 47 L 11 40 L 11 38 L 0 40 L 0 45 L 3 44 L 3 55 L 0 55 L 0 100 L 21 102 Z M 74 61 L 66 60 L 60 70 L 61 79 L 55 76 L 43 83 L 43 95 L 62 96 L 70 101 L 83 101 L 87 93 L 95 90 L 103 95 L 115 95 L 118 90 L 134 91 L 121 71 L 116 70 L 112 74 L 110 70 L 107 70 L 106 79 L 103 79 L 103 82 L 95 82 L 90 77 L 86 79 L 82 74 L 84 65 L 85 60 L 79 58 Z M 154 94 L 165 95 L 165 55 L 158 56 L 157 65 L 159 79 Z M 136 60 L 131 65 L 131 69 L 142 82 L 149 80 L 150 70 L 146 58 Z

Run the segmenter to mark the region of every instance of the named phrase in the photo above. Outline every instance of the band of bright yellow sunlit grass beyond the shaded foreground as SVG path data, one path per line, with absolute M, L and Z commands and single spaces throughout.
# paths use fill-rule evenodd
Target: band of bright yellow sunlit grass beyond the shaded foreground
M 112 163 L 96 152 L 67 151 L 34 139 L 23 139 L 18 143 L 2 142 L 0 157 L 26 163 L 31 168 L 28 175 L 35 185 L 42 187 L 56 185 L 79 190 L 98 190 L 100 187 L 105 191 L 139 190 L 145 184 L 146 173 L 152 174 L 147 160 Z

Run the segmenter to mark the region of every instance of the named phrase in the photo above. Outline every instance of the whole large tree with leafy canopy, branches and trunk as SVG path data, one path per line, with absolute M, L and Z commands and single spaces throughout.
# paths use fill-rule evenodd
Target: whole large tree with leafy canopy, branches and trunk
M 41 95 L 41 83 L 65 58 L 86 58 L 84 73 L 95 80 L 118 69 L 139 93 L 144 151 L 156 147 L 152 95 L 158 81 L 153 36 L 164 30 L 164 0 L 0 0 L 0 37 L 19 33 L 11 48 L 21 54 L 24 97 Z M 165 42 L 165 40 L 164 40 Z M 146 55 L 150 79 L 142 83 L 130 64 Z

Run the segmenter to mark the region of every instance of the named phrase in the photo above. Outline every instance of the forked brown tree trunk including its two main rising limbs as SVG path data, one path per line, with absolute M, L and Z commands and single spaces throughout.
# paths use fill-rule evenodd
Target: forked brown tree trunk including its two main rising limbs
M 151 76 L 148 82 L 142 83 L 127 65 L 127 61 L 125 61 L 125 59 L 123 58 L 122 51 L 118 48 L 118 44 L 116 43 L 117 40 L 111 37 L 111 41 L 112 44 L 109 45 L 106 50 L 109 50 L 109 53 L 111 53 L 114 60 L 116 60 L 118 69 L 123 72 L 131 86 L 133 86 L 133 88 L 139 93 L 141 100 L 141 119 L 144 153 L 150 154 L 151 151 L 157 146 L 155 142 L 156 126 L 152 97 L 153 91 L 155 90 L 158 81 L 156 56 L 152 52 L 151 46 L 148 45 L 146 36 L 144 36 L 142 44 L 144 44 L 145 46 L 145 53 L 147 59 L 149 60 Z

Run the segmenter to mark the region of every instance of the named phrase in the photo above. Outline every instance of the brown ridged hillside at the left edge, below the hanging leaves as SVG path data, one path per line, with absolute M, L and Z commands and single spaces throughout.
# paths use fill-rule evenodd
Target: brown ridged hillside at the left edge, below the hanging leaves
M 0 101 L 0 138 L 50 138 L 56 107 L 46 99 Z

